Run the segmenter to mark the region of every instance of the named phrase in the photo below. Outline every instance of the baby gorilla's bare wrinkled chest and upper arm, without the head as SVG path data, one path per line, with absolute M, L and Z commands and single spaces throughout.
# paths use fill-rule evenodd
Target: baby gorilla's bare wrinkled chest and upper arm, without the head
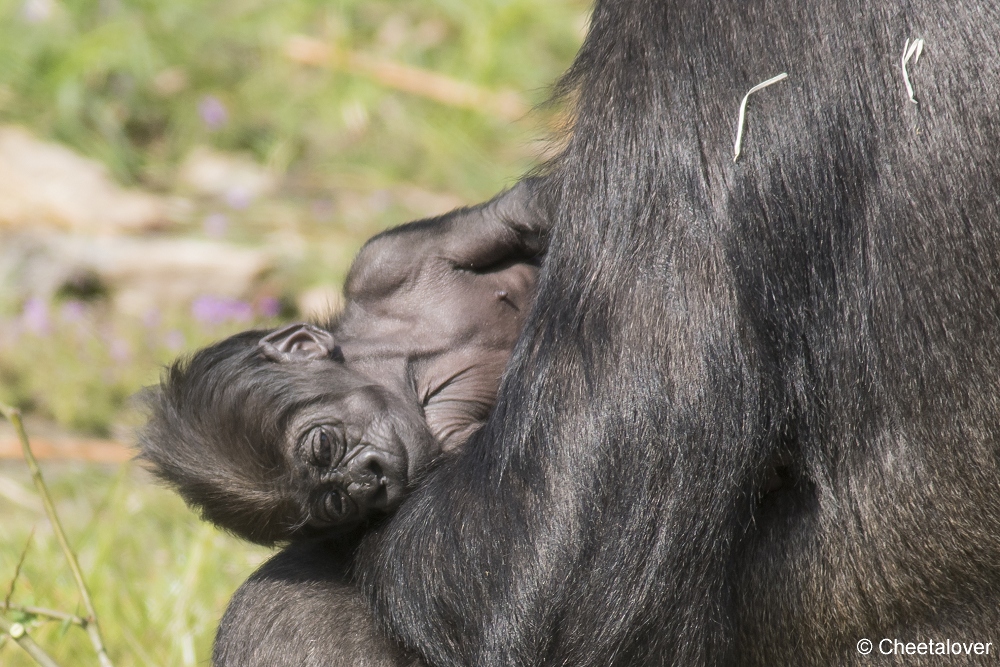
M 347 280 L 338 340 L 348 365 L 408 392 L 445 449 L 496 403 L 534 299 L 550 228 L 545 182 L 380 234 Z

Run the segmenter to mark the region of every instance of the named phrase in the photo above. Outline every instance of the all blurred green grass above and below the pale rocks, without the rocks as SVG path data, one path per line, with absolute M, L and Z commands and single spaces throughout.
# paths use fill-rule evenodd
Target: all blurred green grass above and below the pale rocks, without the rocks
M 489 108 L 454 108 L 296 63 L 286 55 L 291 38 L 515 91 L 535 105 L 570 63 L 587 10 L 582 0 L 0 0 L 0 123 L 24 125 L 100 160 L 122 183 L 166 194 L 186 194 L 178 165 L 196 146 L 251 156 L 283 185 L 267 201 L 226 210 L 226 240 L 302 244 L 303 259 L 275 278 L 276 293 L 294 294 L 338 283 L 367 236 L 411 217 L 395 201 L 380 205 L 380 192 L 402 185 L 483 200 L 537 163 L 558 110 L 512 123 Z M 224 122 L 206 122 L 207 101 Z M 344 193 L 367 205 L 330 213 L 330 199 Z M 193 219 L 170 233 L 203 230 Z M 69 431 L 128 440 L 137 420 L 129 397 L 163 364 L 274 323 L 273 315 L 205 322 L 178 310 L 151 321 L 74 297 L 6 303 L 0 401 Z M 133 465 L 43 469 L 115 664 L 206 664 L 228 597 L 266 550 L 200 523 Z M 0 482 L 11 481 L 31 488 L 23 465 L 0 461 Z M 0 516 L 0 597 L 34 526 L 12 601 L 79 613 L 44 516 L 3 494 Z M 96 664 L 78 628 L 44 623 L 32 633 L 63 665 Z M 31 663 L 7 641 L 0 664 Z

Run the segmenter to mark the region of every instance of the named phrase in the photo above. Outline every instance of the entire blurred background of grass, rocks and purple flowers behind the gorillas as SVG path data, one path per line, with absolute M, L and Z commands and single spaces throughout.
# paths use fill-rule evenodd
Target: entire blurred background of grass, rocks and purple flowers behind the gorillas
M 116 665 L 207 664 L 269 553 L 129 463 L 133 394 L 213 340 L 335 310 L 365 239 L 551 155 L 565 119 L 537 107 L 588 10 L 0 0 L 0 402 L 26 414 Z M 0 423 L 5 601 L 83 611 Z M 79 628 L 0 613 L 96 664 Z M 0 638 L 0 664 L 33 663 Z

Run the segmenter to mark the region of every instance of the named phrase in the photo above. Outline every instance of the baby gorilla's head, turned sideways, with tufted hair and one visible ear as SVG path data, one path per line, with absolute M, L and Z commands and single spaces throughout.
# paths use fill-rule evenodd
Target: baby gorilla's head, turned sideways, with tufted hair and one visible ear
M 263 544 L 391 511 L 439 446 L 419 406 L 312 325 L 248 331 L 147 394 L 140 456 L 205 518 Z

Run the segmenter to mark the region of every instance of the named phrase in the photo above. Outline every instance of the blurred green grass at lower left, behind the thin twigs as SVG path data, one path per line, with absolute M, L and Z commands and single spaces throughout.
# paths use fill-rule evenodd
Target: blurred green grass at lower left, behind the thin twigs
M 229 596 L 268 551 L 198 521 L 179 497 L 151 484 L 131 464 L 115 469 L 46 463 L 43 468 L 115 665 L 207 664 Z M 33 488 L 26 466 L 4 463 L 0 477 L 6 484 Z M 12 602 L 82 614 L 44 514 L 5 499 L 0 499 L 0 512 L 0 598 L 27 545 Z M 58 621 L 28 627 L 59 664 L 97 664 L 81 629 Z M 0 646 L 0 664 L 34 663 L 8 640 Z

